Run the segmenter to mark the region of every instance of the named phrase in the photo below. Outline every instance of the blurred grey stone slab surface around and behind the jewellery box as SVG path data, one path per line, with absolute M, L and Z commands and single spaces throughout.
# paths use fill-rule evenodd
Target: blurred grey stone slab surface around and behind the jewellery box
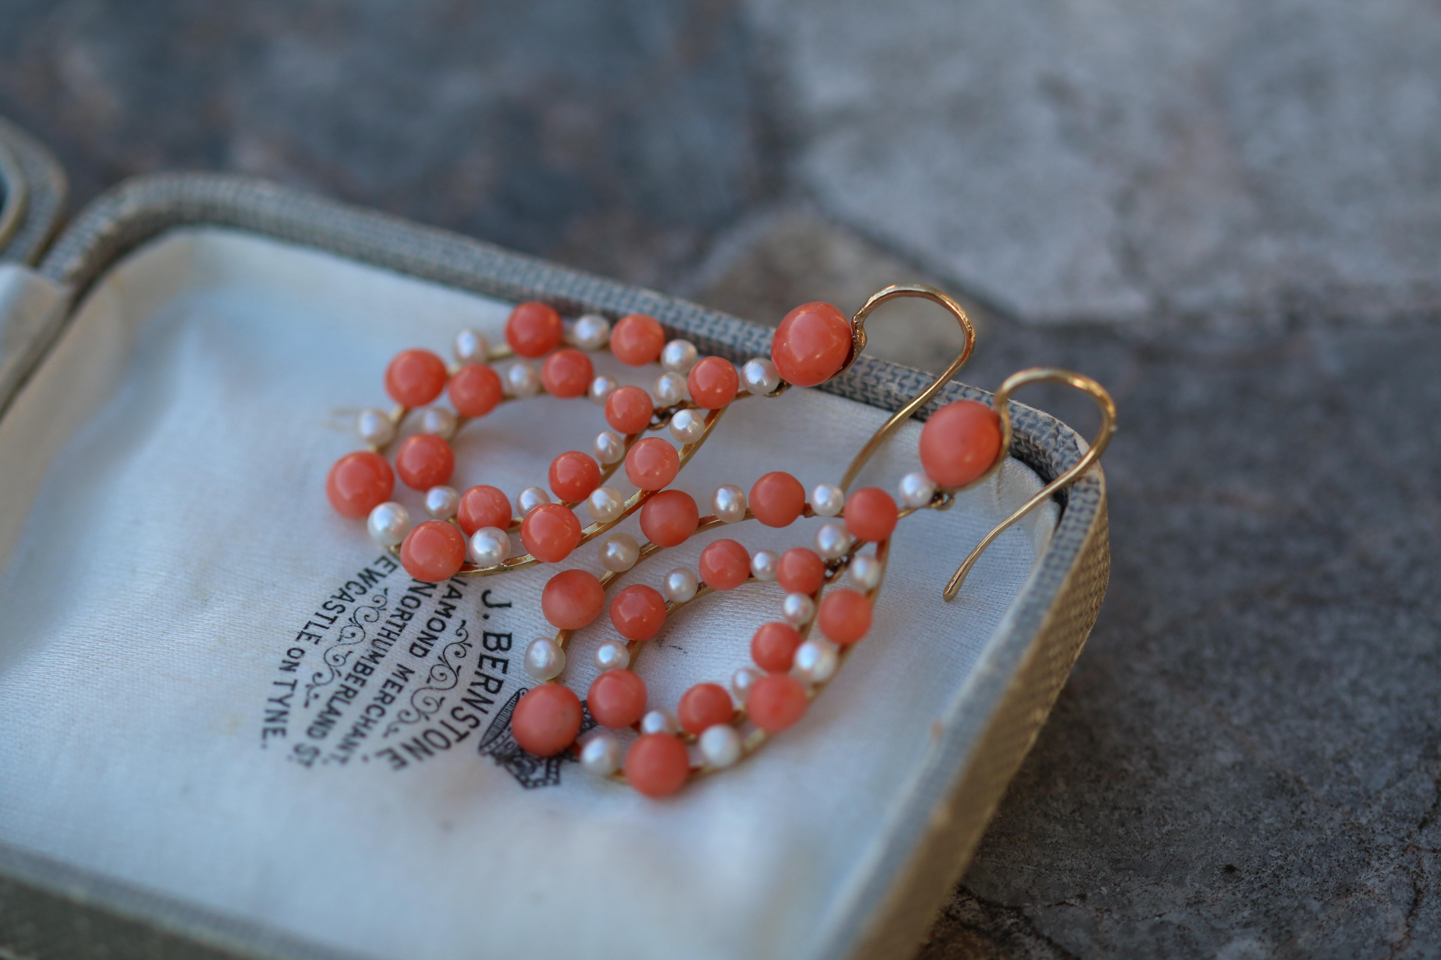
M 968 381 L 1115 394 L 1114 573 L 919 956 L 1441 954 L 1434 0 L 0 0 L 0 114 L 76 203 L 238 170 L 767 322 L 958 292 Z

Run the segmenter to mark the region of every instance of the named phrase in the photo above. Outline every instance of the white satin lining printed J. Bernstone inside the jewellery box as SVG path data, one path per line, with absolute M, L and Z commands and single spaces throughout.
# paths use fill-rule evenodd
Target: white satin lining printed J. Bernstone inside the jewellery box
M 1039 478 L 1007 461 L 950 511 L 902 521 L 867 639 L 797 727 L 732 770 L 657 802 L 572 761 L 527 766 L 504 753 L 503 708 L 533 685 L 522 656 L 552 633 L 539 593 L 556 567 L 418 587 L 323 492 L 359 448 L 354 413 L 386 406 L 391 356 L 445 353 L 463 327 L 499 341 L 509 309 L 212 227 L 163 235 L 91 289 L 0 420 L 0 842 L 367 956 L 826 943 L 1056 507 L 1001 535 L 954 603 L 951 570 Z M 659 373 L 597 360 L 623 383 Z M 706 504 L 772 469 L 836 481 L 885 417 L 814 390 L 745 400 L 676 486 Z M 602 427 L 585 400 L 503 404 L 458 436 L 452 484 L 543 485 Z M 906 425 L 859 484 L 916 469 L 918 433 Z M 421 515 L 418 494 L 398 484 L 396 499 Z M 808 544 L 818 522 L 703 534 L 621 584 L 659 586 L 719 537 Z M 625 528 L 640 538 L 634 517 Z M 599 571 L 594 547 L 561 566 Z M 651 705 L 725 682 L 780 599 L 746 584 L 673 617 L 635 662 Z M 344 640 L 375 636 L 367 609 L 412 619 L 359 685 L 353 651 L 373 648 Z M 611 636 L 602 615 L 572 640 L 565 679 L 582 697 Z

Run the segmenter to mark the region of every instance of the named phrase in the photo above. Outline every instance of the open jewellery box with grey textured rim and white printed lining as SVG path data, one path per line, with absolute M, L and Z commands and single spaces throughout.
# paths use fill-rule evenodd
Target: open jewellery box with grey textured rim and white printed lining
M 1105 592 L 1094 468 L 941 599 L 965 551 L 1082 456 L 1069 427 L 1013 404 L 1013 458 L 950 511 L 902 522 L 870 636 L 806 718 L 674 797 L 506 746 L 504 705 L 530 685 L 523 643 L 550 632 L 545 567 L 451 597 L 468 645 L 412 628 L 380 668 L 403 668 L 386 725 L 343 746 L 313 689 L 339 629 L 324 604 L 442 599 L 408 594 L 323 494 L 359 446 L 354 410 L 385 404 L 392 354 L 442 351 L 463 327 L 499 340 L 522 299 L 647 312 L 733 361 L 765 356 L 769 328 L 236 177 L 130 181 L 46 245 L 63 181 L 13 130 L 0 144 L 0 953 L 914 948 Z M 677 486 L 699 499 L 772 469 L 833 481 L 929 380 L 862 357 L 823 390 L 738 404 Z M 931 409 L 989 396 L 951 384 Z M 467 427 L 457 485 L 540 482 L 550 456 L 588 449 L 599 417 L 581 406 L 507 404 Z M 918 432 L 862 481 L 914 469 Z M 736 535 L 784 548 L 814 522 Z M 712 596 L 653 642 L 637 669 L 667 704 L 745 661 L 774 616 L 765 586 Z M 604 635 L 576 635 L 578 689 Z

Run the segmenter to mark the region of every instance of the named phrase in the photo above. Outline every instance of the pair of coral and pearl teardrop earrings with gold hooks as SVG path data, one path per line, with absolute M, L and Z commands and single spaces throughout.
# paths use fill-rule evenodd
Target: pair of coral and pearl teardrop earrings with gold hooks
M 800 481 L 777 471 L 761 476 L 749 491 L 719 486 L 708 515 L 689 494 L 669 489 L 732 403 L 777 397 L 793 386 L 813 387 L 842 376 L 866 347 L 866 318 L 901 296 L 925 298 L 945 308 L 960 324 L 964 345 L 931 386 L 876 430 L 837 484 L 820 484 L 807 497 Z M 935 410 L 921 429 L 922 469 L 902 476 L 895 497 L 876 486 L 847 492 L 880 445 L 965 366 L 974 343 L 974 328 L 960 304 L 922 285 L 888 286 L 849 320 L 830 304 L 797 307 L 777 327 L 771 358 L 749 360 L 739 370 L 720 357 L 702 358 L 686 340 L 667 343 L 661 325 L 643 314 L 624 317 L 614 328 L 595 314 L 566 324 L 552 307 L 525 302 L 506 322 L 506 345 L 491 347 L 476 331 L 463 331 L 455 341 L 454 367 L 425 350 L 395 357 L 385 386 L 398 406 L 360 413 L 357 427 L 369 449 L 337 461 L 326 492 L 342 515 L 366 518 L 370 535 L 396 551 L 416 580 L 484 577 L 537 563 L 559 564 L 582 544 L 599 540 L 602 576 L 561 570 L 542 592 L 540 607 L 556 635 L 533 640 L 526 651 L 526 671 L 539 685 L 516 704 L 512 733 L 522 748 L 537 757 L 574 750 L 588 771 L 627 780 L 647 796 L 666 796 L 693 776 L 732 766 L 804 715 L 810 699 L 870 630 L 896 524 L 921 511 L 947 510 L 955 494 L 1000 469 L 1012 443 L 1009 400 L 1017 389 L 1040 381 L 1069 384 L 1095 400 L 1101 429 L 1071 469 L 971 550 L 945 584 L 947 600 L 955 597 L 996 537 L 1099 459 L 1115 430 L 1110 394 L 1089 377 L 1036 367 L 1007 377 L 993 406 L 960 400 Z M 604 348 L 631 367 L 659 361 L 661 373 L 653 389 L 595 376 L 586 354 Z M 490 366 L 512 357 L 519 360 L 503 373 Z M 540 361 L 539 370 L 532 361 Z M 516 499 L 519 517 L 512 514 L 510 498 L 494 486 L 458 492 L 448 485 L 455 466 L 450 440 L 457 430 L 500 403 L 542 390 L 555 397 L 588 397 L 604 409 L 610 429 L 595 438 L 592 453 L 571 450 L 556 456 L 548 476 L 550 492 L 540 486 L 522 491 Z M 441 393 L 448 393 L 454 412 L 428 406 Z M 419 432 L 398 445 L 392 471 L 385 450 L 412 412 L 419 412 Z M 676 443 L 646 436 L 661 430 L 669 430 Z M 608 485 L 621 468 L 635 486 L 630 497 Z M 389 499 L 395 474 L 425 492 L 429 520 L 412 525 L 408 511 Z M 575 515 L 582 504 L 592 520 L 585 527 Z M 614 530 L 637 511 L 644 544 Z M 602 672 L 591 684 L 585 704 L 558 682 L 571 635 L 607 609 L 610 587 L 638 563 L 702 531 L 746 520 L 787 527 L 801 517 L 831 518 L 811 545 L 780 554 L 751 553 L 736 540 L 716 540 L 700 553 L 697 570 L 672 570 L 660 590 L 638 583 L 618 590 L 608 612 L 623 639 L 597 651 Z M 513 556 L 512 534 L 519 534 L 525 548 L 520 556 Z M 630 669 L 637 652 L 660 633 L 673 612 L 752 580 L 775 581 L 782 592 L 777 619 L 751 639 L 754 666 L 736 671 L 728 687 L 692 687 L 673 714 L 651 708 L 646 682 Z M 814 636 L 817 632 L 820 636 Z M 601 730 L 578 743 L 586 711 Z M 625 728 L 640 734 L 628 747 L 618 735 Z

